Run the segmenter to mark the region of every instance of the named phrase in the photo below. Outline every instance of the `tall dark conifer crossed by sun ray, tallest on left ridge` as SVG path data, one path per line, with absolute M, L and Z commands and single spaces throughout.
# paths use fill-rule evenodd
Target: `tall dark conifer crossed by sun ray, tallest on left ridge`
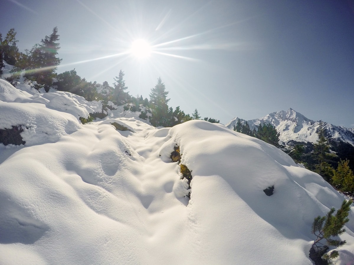
M 44 85 L 46 92 L 52 86 L 52 78 L 62 61 L 57 57 L 60 48 L 58 40 L 58 28 L 55 27 L 50 36 L 45 36 L 41 44 L 36 44 L 30 51 L 30 69 L 33 71 L 27 72 L 26 77 Z

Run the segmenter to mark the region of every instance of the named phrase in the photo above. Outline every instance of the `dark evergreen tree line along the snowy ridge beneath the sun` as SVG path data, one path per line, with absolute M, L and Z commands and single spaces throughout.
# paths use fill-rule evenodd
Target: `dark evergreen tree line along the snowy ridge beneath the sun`
M 60 45 L 57 27 L 53 28 L 52 34 L 45 36 L 40 43 L 35 44 L 30 50 L 26 49 L 24 53 L 19 51 L 17 42 L 15 29 L 10 29 L 4 39 L 0 33 L 0 75 L 4 68 L 3 60 L 15 66 L 11 70 L 12 75 L 6 77 L 7 81 L 14 86 L 21 73 L 24 73 L 25 80 L 32 82 L 32 86 L 38 90 L 44 88 L 45 92 L 48 92 L 50 88 L 55 88 L 83 96 L 89 101 L 101 100 L 106 107 L 111 101 L 116 106 L 124 105 L 125 110 L 132 111 L 141 111 L 141 106 L 144 106 L 145 111 L 142 111 L 140 117 L 149 118 L 153 126 L 170 127 L 187 120 L 201 118 L 197 109 L 190 115 L 184 113 L 179 106 L 174 110 L 169 107 L 167 104 L 170 100 L 167 99 L 169 92 L 160 77 L 155 87 L 151 89 L 148 100 L 143 99 L 142 95 L 129 94 L 122 70 L 114 78 L 113 86 L 110 86 L 107 81 L 102 84 L 88 82 L 85 78 L 81 78 L 75 69 L 57 73 L 57 66 L 62 61 L 58 58 Z M 220 120 L 208 117 L 204 120 L 212 123 L 220 122 Z

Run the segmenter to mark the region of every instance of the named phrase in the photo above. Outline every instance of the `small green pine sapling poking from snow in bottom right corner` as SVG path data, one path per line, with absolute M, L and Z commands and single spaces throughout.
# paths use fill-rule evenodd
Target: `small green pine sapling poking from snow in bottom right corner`
M 331 259 L 335 259 L 339 256 L 337 250 L 333 250 L 331 253 L 324 253 L 327 251 L 329 246 L 340 247 L 346 243 L 345 240 L 341 241 L 333 239 L 331 237 L 339 236 L 346 231 L 343 226 L 349 222 L 348 214 L 350 211 L 350 205 L 352 203 L 352 199 L 348 201 L 344 200 L 342 202 L 341 208 L 337 210 L 335 216 L 333 216 L 335 208 L 332 207 L 331 210 L 325 216 L 315 217 L 312 223 L 311 232 L 316 236 L 316 240 L 312 244 L 312 249 L 314 249 L 315 253 L 317 254 L 316 257 L 322 257 L 323 255 L 323 259 L 331 263 Z M 325 244 L 320 242 L 322 239 L 326 240 Z M 313 259 L 316 257 L 313 256 L 310 258 Z

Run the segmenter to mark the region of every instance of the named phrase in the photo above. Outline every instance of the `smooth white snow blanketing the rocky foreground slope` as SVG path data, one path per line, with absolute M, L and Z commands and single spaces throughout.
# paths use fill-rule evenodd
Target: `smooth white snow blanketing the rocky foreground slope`
M 312 264 L 314 217 L 345 199 L 224 125 L 157 129 L 120 108 L 82 125 L 99 102 L 26 86 L 0 80 L 0 128 L 23 125 L 26 142 L 0 144 L 0 264 Z M 338 265 L 354 264 L 354 207 L 349 218 Z

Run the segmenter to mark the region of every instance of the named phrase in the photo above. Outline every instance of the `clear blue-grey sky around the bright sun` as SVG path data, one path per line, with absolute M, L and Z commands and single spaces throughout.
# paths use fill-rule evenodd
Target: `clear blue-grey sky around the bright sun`
M 352 0 L 2 0 L 0 32 L 20 51 L 58 27 L 61 73 L 149 95 L 158 77 L 169 106 L 224 124 L 293 108 L 313 120 L 354 127 Z M 153 53 L 127 51 L 136 39 Z

